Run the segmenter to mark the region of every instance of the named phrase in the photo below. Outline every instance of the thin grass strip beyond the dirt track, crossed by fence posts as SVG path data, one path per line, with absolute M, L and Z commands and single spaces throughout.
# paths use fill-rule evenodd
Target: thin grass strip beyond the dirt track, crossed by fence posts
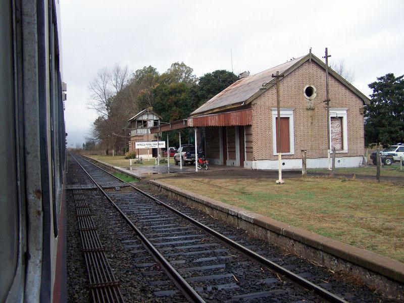
M 319 172 L 324 174 L 330 174 L 331 172 L 327 169 L 308 169 L 308 172 Z M 368 167 L 356 167 L 356 168 L 336 168 L 336 174 L 356 174 L 356 175 L 366 175 L 376 177 L 376 166 Z M 404 168 L 400 171 L 400 165 L 394 163 L 391 166 L 382 166 L 380 170 L 381 176 L 386 177 L 404 177 Z

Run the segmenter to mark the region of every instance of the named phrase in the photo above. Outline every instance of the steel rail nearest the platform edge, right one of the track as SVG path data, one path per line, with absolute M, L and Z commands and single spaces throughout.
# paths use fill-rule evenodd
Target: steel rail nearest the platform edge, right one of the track
M 341 298 L 341 297 L 339 297 L 339 296 L 337 296 L 337 295 L 335 295 L 335 294 L 329 292 L 328 290 L 326 290 L 326 289 L 324 289 L 324 288 L 322 288 L 322 287 L 320 287 L 320 286 L 318 286 L 318 285 L 316 285 L 316 284 L 310 282 L 309 280 L 307 280 L 307 279 L 305 279 L 305 278 L 300 277 L 299 275 L 297 275 L 297 274 L 295 274 L 295 273 L 293 273 L 293 272 L 291 272 L 291 271 L 289 271 L 289 270 L 283 268 L 282 266 L 280 266 L 280 265 L 278 265 L 278 264 L 272 262 L 271 260 L 268 260 L 267 258 L 265 258 L 265 257 L 263 257 L 263 256 L 261 256 L 261 255 L 259 255 L 259 254 L 257 254 L 257 252 L 252 251 L 251 249 L 249 249 L 249 248 L 247 248 L 247 247 L 245 247 L 245 246 L 243 246 L 243 245 L 241 245 L 241 244 L 239 244 L 239 243 L 237 243 L 237 242 L 235 242 L 235 241 L 229 239 L 229 238 L 226 237 L 225 235 L 223 235 L 223 234 L 217 232 L 216 230 L 210 228 L 209 226 L 206 226 L 205 224 L 200 223 L 199 221 L 197 221 L 197 220 L 195 220 L 195 219 L 189 217 L 188 215 L 186 215 L 186 214 L 184 214 L 184 213 L 182 213 L 182 212 L 176 210 L 175 208 L 169 206 L 168 204 L 165 204 L 164 202 L 160 201 L 159 199 L 157 199 L 157 198 L 155 198 L 155 197 L 149 195 L 148 193 L 142 191 L 141 189 L 139 189 L 139 188 L 133 186 L 132 184 L 130 184 L 130 183 L 128 183 L 128 182 L 125 182 L 124 180 L 122 180 L 122 179 L 120 179 L 120 178 L 114 176 L 114 175 L 111 174 L 110 172 L 108 172 L 108 171 L 106 171 L 105 169 L 103 169 L 103 168 L 101 168 L 101 167 L 95 165 L 94 163 L 91 163 L 90 161 L 88 161 L 88 160 L 86 160 L 86 159 L 84 159 L 84 158 L 81 158 L 81 159 L 87 161 L 88 163 L 92 164 L 93 166 L 99 168 L 100 170 L 103 170 L 104 172 L 106 172 L 106 173 L 108 173 L 109 175 L 111 175 L 112 177 L 114 177 L 114 178 L 120 180 L 121 182 L 124 182 L 124 183 L 128 184 L 129 186 L 133 187 L 135 190 L 137 190 L 137 191 L 140 192 L 141 194 L 143 194 L 143 195 L 145 195 L 146 197 L 148 197 L 148 198 L 154 200 L 157 204 L 160 204 L 160 205 L 164 206 L 165 208 L 167 208 L 167 209 L 169 209 L 170 211 L 174 212 L 174 213 L 177 214 L 178 216 L 180 216 L 180 217 L 182 217 L 182 218 L 188 220 L 188 221 L 191 222 L 193 225 L 195 225 L 195 226 L 197 226 L 197 227 L 199 227 L 199 228 L 205 230 L 205 231 L 208 232 L 209 234 L 211 234 L 211 235 L 213 235 L 213 236 L 219 238 L 220 240 L 222 240 L 223 242 L 229 244 L 229 245 L 232 246 L 233 248 L 235 248 L 235 249 L 237 249 L 237 250 L 243 252 L 243 254 L 246 255 L 246 256 L 248 256 L 249 258 L 251 258 L 251 259 L 253 259 L 253 260 L 255 260 L 255 261 L 257 261 L 257 262 L 259 262 L 259 263 L 261 263 L 261 264 L 263 264 L 263 265 L 265 265 L 265 266 L 271 268 L 271 269 L 273 269 L 274 271 L 276 271 L 276 272 L 279 273 L 279 274 L 282 274 L 282 275 L 286 276 L 288 279 L 292 280 L 293 282 L 295 282 L 295 283 L 297 283 L 297 284 L 299 284 L 299 285 L 301 285 L 301 286 L 303 286 L 303 287 L 305 287 L 305 288 L 307 288 L 307 289 L 309 289 L 309 290 L 314 291 L 315 293 L 317 293 L 317 294 L 318 294 L 320 297 L 322 297 L 323 299 L 325 299 L 325 300 L 327 300 L 327 301 L 329 301 L 329 302 L 332 302 L 332 303 L 347 303 L 347 301 L 344 300 L 343 298 Z M 77 160 L 76 160 L 76 161 L 77 161 Z

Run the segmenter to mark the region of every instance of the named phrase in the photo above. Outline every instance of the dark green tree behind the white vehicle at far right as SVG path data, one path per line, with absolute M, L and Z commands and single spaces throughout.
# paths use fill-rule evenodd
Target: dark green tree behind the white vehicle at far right
M 384 146 L 404 142 L 404 75 L 378 77 L 370 105 L 365 107 L 365 142 Z

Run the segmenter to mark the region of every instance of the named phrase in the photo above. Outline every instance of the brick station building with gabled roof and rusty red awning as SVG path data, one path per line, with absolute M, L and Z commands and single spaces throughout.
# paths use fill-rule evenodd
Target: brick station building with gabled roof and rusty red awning
M 161 132 L 197 129 L 198 149 L 212 164 L 252 169 L 277 169 L 277 72 L 279 78 L 282 168 L 301 168 L 307 150 L 308 168 L 328 167 L 326 72 L 311 52 L 240 79 Z M 358 167 L 364 157 L 364 105 L 367 96 L 329 70 L 329 123 L 336 167 Z

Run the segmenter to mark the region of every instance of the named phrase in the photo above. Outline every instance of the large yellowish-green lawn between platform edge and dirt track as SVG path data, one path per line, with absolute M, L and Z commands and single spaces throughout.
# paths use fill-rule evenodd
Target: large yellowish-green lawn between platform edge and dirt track
M 404 187 L 331 178 L 161 181 L 404 262 Z M 195 186 L 198 184 L 198 186 Z

